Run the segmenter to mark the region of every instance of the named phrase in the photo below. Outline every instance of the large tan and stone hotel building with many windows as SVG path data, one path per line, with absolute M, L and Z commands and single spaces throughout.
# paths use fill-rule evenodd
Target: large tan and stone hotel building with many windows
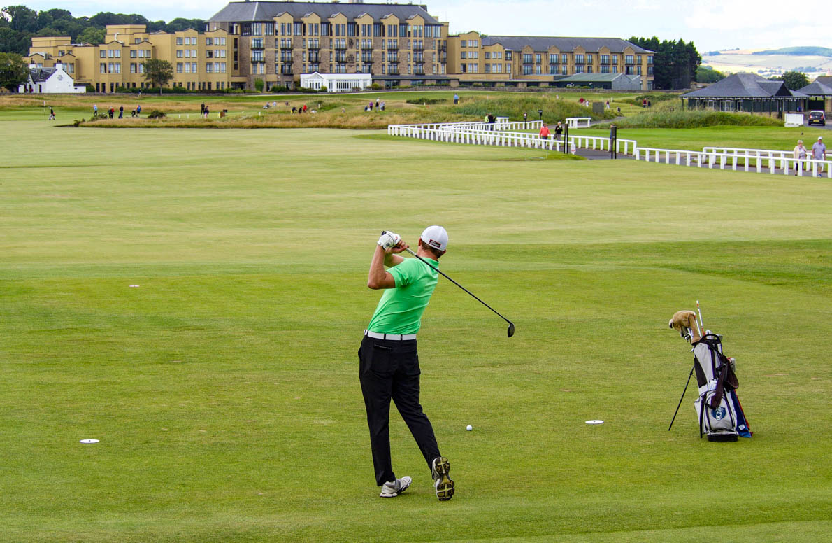
M 32 37 L 27 62 L 60 64 L 96 92 L 144 87 L 142 62 L 171 62 L 170 87 L 189 90 L 296 87 L 300 74 L 362 73 L 382 87 L 449 85 L 547 87 L 625 74 L 653 82 L 653 52 L 618 38 L 448 35 L 448 22 L 417 4 L 230 2 L 206 27 L 146 32 L 109 25 L 101 45 Z M 366 76 L 365 76 L 366 77 Z

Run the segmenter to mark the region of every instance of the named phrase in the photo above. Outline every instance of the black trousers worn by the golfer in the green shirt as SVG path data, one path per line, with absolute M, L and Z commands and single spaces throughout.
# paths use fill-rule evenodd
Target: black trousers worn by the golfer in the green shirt
M 413 434 L 428 468 L 431 461 L 440 456 L 433 426 L 418 401 L 420 374 L 416 340 L 392 341 L 364 336 L 359 349 L 359 380 L 367 409 L 378 486 L 396 479 L 390 459 L 391 399 Z

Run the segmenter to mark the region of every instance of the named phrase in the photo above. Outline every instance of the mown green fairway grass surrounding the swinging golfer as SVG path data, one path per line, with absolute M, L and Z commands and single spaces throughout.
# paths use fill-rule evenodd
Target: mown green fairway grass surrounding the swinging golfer
M 832 530 L 827 180 L 39 118 L 0 112 L 0 541 Z M 383 500 L 356 354 L 379 300 L 367 270 L 381 230 L 414 243 L 434 223 L 441 269 L 517 333 L 440 278 L 422 404 L 457 493 L 436 500 L 392 409 L 394 469 L 414 484 Z M 697 299 L 737 360 L 750 440 L 701 440 L 693 385 L 667 431 L 692 361 L 667 321 Z

